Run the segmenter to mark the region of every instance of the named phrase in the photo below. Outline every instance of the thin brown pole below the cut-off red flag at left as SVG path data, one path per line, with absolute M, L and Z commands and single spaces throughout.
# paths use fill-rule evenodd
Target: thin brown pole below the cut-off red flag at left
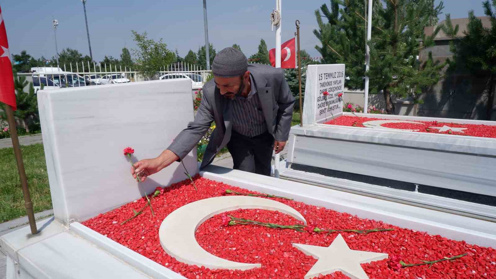
M 5 104 L 5 113 L 7 114 L 8 127 L 10 129 L 10 139 L 12 139 L 12 146 L 14 147 L 15 161 L 17 162 L 17 170 L 19 171 L 19 179 L 21 181 L 22 193 L 24 196 L 24 207 L 26 208 L 29 220 L 29 226 L 31 227 L 31 233 L 37 234 L 38 229 L 36 228 L 36 220 L 34 218 L 33 203 L 31 202 L 31 196 L 29 195 L 28 181 L 26 178 L 26 171 L 24 169 L 24 163 L 22 162 L 21 147 L 19 145 L 19 138 L 17 136 L 17 128 L 15 126 L 14 112 L 9 105 Z

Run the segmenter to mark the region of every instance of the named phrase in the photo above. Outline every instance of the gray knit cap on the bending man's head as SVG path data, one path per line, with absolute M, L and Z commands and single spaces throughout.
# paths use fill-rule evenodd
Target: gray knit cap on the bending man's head
M 225 48 L 215 55 L 212 73 L 221 77 L 243 75 L 248 70 L 247 57 L 235 48 Z

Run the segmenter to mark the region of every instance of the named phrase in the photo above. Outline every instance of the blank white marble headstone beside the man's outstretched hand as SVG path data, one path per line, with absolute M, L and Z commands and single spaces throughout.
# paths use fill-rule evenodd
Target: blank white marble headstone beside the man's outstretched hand
M 83 221 L 186 179 L 173 165 L 138 183 L 132 161 L 165 150 L 193 120 L 191 81 L 174 79 L 38 92 L 43 144 L 55 217 Z M 186 156 L 198 172 L 196 150 Z

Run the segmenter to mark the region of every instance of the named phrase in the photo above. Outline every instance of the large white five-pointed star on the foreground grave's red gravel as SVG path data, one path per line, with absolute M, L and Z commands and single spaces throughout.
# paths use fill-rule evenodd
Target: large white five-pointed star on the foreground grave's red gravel
M 304 254 L 312 256 L 318 261 L 305 275 L 305 279 L 318 277 L 319 274 L 327 275 L 340 271 L 352 279 L 368 279 L 369 277 L 360 264 L 387 259 L 384 253 L 351 250 L 341 234 L 329 247 L 293 243 Z

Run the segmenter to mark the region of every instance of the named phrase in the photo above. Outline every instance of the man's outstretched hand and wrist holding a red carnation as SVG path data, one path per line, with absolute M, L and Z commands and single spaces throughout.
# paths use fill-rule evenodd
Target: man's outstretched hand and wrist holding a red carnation
M 153 159 L 143 159 L 133 164 L 131 167 L 132 177 L 139 176 L 141 182 L 146 180 L 146 177 L 159 172 L 163 168 L 178 160 L 179 157 L 169 149 L 165 150 L 160 156 Z

